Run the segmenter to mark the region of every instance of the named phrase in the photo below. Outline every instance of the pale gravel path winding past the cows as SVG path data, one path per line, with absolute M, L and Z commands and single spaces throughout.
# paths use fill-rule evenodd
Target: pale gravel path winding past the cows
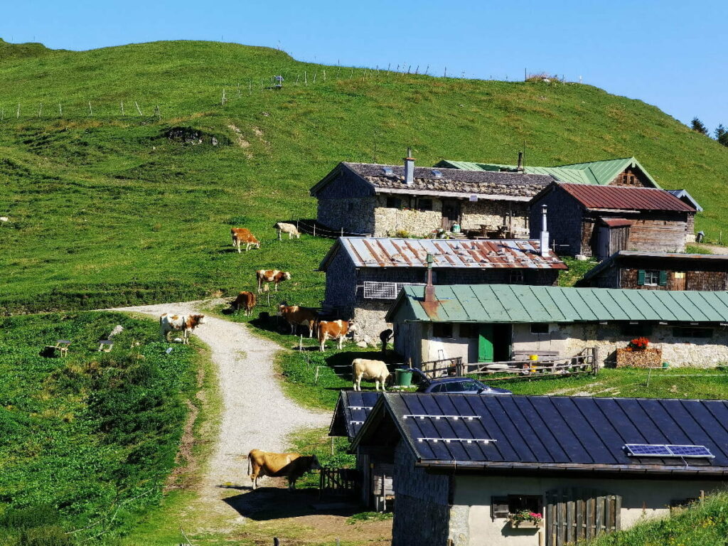
M 159 317 L 162 313 L 200 312 L 200 301 L 124 307 L 114 311 L 133 311 Z M 223 398 L 218 445 L 203 478 L 202 499 L 215 503 L 213 510 L 234 510 L 223 498 L 229 496 L 229 483 L 249 486 L 245 457 L 253 448 L 285 451 L 286 437 L 302 428 L 325 427 L 331 415 L 301 408 L 285 397 L 273 371 L 273 358 L 281 347 L 273 341 L 253 336 L 248 327 L 216 317 L 206 317 L 194 335 L 207 344 L 218 368 Z M 265 483 L 265 482 L 264 482 Z M 223 486 L 223 488 L 221 488 Z M 227 491 L 227 492 L 226 492 Z

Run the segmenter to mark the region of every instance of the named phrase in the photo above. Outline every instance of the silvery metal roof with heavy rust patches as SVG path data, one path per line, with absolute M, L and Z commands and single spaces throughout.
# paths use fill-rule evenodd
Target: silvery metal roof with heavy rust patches
M 391 239 L 389 237 L 339 237 L 321 262 L 325 271 L 343 248 L 355 267 L 458 267 L 480 269 L 569 269 L 549 250 L 541 256 L 537 240 Z

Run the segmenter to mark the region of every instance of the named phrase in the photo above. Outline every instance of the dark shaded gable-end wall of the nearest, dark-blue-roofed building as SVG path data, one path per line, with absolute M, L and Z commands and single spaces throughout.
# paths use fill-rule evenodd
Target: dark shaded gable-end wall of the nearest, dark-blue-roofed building
M 400 440 L 395 448 L 392 546 L 447 544 L 450 480 L 416 468 L 409 448 Z

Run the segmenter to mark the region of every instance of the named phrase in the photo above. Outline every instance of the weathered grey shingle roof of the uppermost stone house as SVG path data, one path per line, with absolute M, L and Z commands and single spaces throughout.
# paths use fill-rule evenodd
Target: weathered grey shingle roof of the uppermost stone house
M 387 175 L 385 169 L 391 170 L 392 174 Z M 312 195 L 336 179 L 332 174 L 339 170 L 344 175 L 344 181 L 352 176 L 358 177 L 371 184 L 377 193 L 475 194 L 481 198 L 499 196 L 523 201 L 528 201 L 555 181 L 550 175 L 415 167 L 414 183 L 408 186 L 404 181 L 404 165 L 341 162 L 332 173 L 311 189 Z M 436 173 L 440 173 L 440 176 Z

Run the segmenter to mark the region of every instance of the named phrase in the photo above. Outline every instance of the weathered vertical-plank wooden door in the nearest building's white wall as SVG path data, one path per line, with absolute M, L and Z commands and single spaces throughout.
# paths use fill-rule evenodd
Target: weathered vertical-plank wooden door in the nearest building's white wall
M 582 488 L 546 492 L 546 546 L 577 544 L 620 530 L 622 497 Z

